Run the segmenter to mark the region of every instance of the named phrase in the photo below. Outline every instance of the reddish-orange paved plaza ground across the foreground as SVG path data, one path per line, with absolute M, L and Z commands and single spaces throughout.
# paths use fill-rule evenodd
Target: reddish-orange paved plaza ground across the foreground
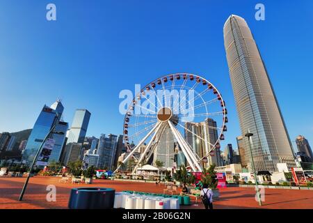
M 1 177 L 0 178 L 0 208 L 67 208 L 70 190 L 73 187 L 111 187 L 117 192 L 134 190 L 138 192 L 163 193 L 163 185 L 154 183 L 138 183 L 118 180 L 94 180 L 91 185 L 61 183 L 58 177 L 35 176 L 29 180 L 24 201 L 18 201 L 26 178 Z M 56 186 L 56 201 L 47 201 L 47 186 Z M 203 208 L 200 202 L 191 199 L 191 206 L 181 208 Z M 255 201 L 254 188 L 228 187 L 220 189 L 220 198 L 214 201 L 214 208 L 313 208 L 313 190 L 282 190 L 265 189 L 265 201 L 262 207 Z

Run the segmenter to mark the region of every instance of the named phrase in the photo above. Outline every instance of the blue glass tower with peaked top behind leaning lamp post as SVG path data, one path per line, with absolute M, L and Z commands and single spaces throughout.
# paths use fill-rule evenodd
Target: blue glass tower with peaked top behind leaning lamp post
M 29 135 L 29 139 L 27 140 L 27 144 L 22 155 L 22 160 L 24 160 L 27 164 L 30 164 L 33 161 L 35 154 L 42 144 L 42 141 L 54 125 L 56 125 L 55 131 L 64 132 L 64 134 L 51 134 L 49 136 L 49 138 L 55 140 L 54 148 L 51 151 L 51 160 L 49 158 L 49 162 L 52 160 L 58 162 L 56 159 L 60 157 L 61 148 L 63 147 L 65 140 L 65 132 L 67 130 L 67 128 L 64 128 L 64 122 L 60 121 L 63 109 L 64 107 L 60 100 L 54 102 L 51 107 L 45 105 L 42 108 L 35 125 L 33 125 L 33 130 L 31 130 L 31 134 Z

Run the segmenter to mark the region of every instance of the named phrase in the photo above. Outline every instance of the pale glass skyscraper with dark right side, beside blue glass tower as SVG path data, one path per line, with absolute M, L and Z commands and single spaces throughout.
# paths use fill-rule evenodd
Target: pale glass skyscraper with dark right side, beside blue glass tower
M 86 137 L 90 112 L 87 109 L 77 109 L 70 130 L 67 132 L 67 144 L 83 143 Z

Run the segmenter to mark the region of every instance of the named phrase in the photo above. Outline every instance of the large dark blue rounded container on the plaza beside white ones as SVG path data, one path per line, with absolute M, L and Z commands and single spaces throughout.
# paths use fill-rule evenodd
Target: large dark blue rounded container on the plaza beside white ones
M 104 187 L 73 188 L 68 208 L 70 209 L 112 209 L 115 190 Z

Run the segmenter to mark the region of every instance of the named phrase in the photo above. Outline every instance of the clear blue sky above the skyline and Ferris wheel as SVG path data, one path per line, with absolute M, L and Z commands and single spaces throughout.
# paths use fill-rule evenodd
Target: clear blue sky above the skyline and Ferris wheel
M 56 4 L 55 22 L 46 20 L 47 3 Z M 257 3 L 265 21 L 255 20 Z M 223 45 L 223 24 L 235 14 L 255 36 L 292 141 L 303 134 L 313 144 L 312 10 L 311 0 L 1 0 L 0 131 L 32 128 L 42 106 L 61 98 L 70 124 L 75 109 L 91 112 L 88 135 L 122 134 L 122 89 L 189 72 L 223 94 L 225 143 L 236 144 L 241 131 Z

